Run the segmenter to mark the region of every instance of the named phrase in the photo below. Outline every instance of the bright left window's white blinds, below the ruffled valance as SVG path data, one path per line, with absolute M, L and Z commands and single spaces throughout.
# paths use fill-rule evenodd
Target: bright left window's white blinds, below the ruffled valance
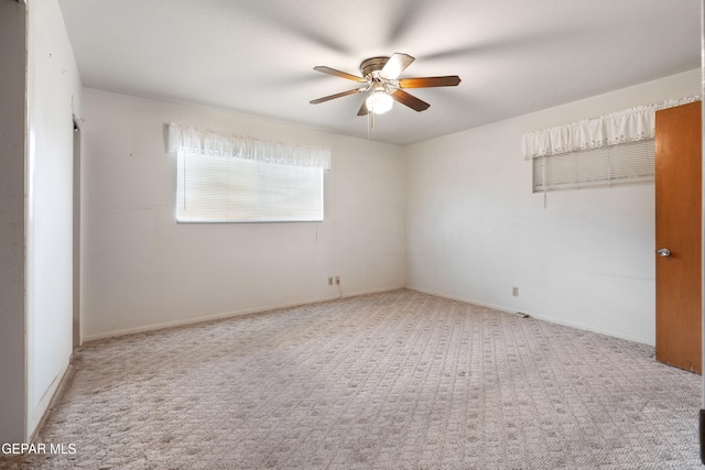
M 324 168 L 177 153 L 180 222 L 323 220 Z

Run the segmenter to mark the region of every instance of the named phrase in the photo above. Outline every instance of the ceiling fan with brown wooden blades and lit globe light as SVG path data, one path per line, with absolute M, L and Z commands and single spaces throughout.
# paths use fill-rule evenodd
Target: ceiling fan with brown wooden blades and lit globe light
M 460 83 L 460 77 L 457 75 L 399 78 L 412 62 L 414 62 L 414 57 L 401 53 L 394 53 L 391 57 L 367 58 L 360 64 L 361 77 L 318 65 L 313 69 L 364 85 L 360 88 L 314 99 L 310 102 L 318 105 L 335 98 L 369 91 L 369 96 L 362 101 L 357 116 L 384 113 L 392 108 L 394 101 L 401 102 L 415 111 L 423 111 L 431 105 L 408 94 L 404 91 L 405 88 L 454 87 Z

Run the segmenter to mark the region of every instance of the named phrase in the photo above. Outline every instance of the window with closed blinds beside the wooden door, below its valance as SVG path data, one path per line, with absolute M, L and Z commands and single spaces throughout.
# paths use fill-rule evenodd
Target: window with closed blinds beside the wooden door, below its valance
M 533 159 L 533 192 L 652 182 L 653 139 Z

